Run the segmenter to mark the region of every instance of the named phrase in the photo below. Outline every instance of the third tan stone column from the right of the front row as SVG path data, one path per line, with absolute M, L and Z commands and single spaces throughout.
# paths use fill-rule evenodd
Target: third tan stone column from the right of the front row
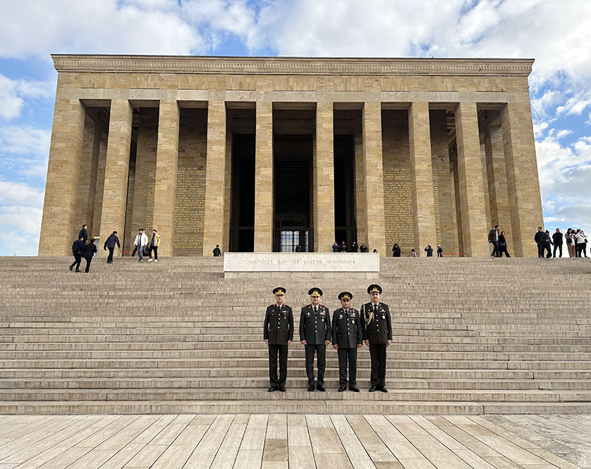
M 408 111 L 414 249 L 417 255 L 427 244 L 437 243 L 429 104 L 412 103 Z

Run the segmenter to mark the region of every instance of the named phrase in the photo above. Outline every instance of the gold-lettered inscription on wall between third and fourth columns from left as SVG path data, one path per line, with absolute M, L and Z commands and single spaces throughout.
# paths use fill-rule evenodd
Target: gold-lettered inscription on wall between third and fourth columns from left
M 177 201 L 174 205 L 174 255 L 201 254 L 205 210 L 205 170 L 177 169 Z

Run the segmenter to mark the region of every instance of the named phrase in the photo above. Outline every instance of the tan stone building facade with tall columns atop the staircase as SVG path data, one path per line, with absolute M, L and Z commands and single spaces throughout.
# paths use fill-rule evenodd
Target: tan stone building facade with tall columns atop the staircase
M 69 255 L 82 223 L 100 240 L 116 230 L 124 252 L 138 228 L 158 229 L 163 256 L 207 256 L 216 244 L 241 250 L 236 225 L 243 250 L 255 252 L 279 250 L 298 233 L 300 244 L 310 235 L 310 250 L 329 251 L 342 233 L 380 255 L 393 243 L 403 255 L 441 243 L 471 257 L 488 255 L 488 230 L 500 224 L 512 255 L 536 254 L 533 60 L 53 60 L 39 255 Z M 234 137 L 248 135 L 252 151 L 237 151 Z M 288 139 L 276 145 L 279 136 Z M 286 148 L 300 151 L 297 167 Z M 242 169 L 233 174 L 235 158 Z M 309 177 L 309 207 L 277 213 L 278 164 Z M 236 221 L 238 205 L 253 221 Z M 298 217 L 307 225 L 279 223 Z

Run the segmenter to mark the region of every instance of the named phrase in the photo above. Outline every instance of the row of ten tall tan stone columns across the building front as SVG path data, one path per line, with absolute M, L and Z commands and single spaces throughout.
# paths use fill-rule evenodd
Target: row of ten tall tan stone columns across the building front
M 272 103 L 256 103 L 255 138 L 255 252 L 272 251 L 273 240 L 273 112 Z M 105 177 L 102 187 L 101 240 L 112 231 L 125 232 L 129 150 L 132 135 L 131 103 L 113 100 L 110 105 Z M 464 252 L 471 257 L 488 255 L 485 195 L 476 103 L 462 102 L 455 110 L 459 220 Z M 541 222 L 541 201 L 530 108 L 527 103 L 504 105 L 501 128 L 485 132 L 488 191 L 495 200 L 491 218 L 510 226 L 515 255 L 534 255 L 526 233 Z M 412 178 L 414 239 L 418 250 L 436 239 L 433 167 L 429 104 L 409 107 L 409 156 Z M 81 170 L 85 109 L 78 100 L 58 99 L 53 132 L 39 255 L 69 255 L 78 191 L 74 185 Z M 87 129 L 88 131 L 88 129 Z M 224 241 L 224 198 L 227 181 L 227 125 L 224 101 L 208 103 L 207 165 L 203 255 Z M 364 103 L 361 152 L 355 155 L 357 172 L 357 227 L 371 248 L 386 254 L 381 103 Z M 98 148 L 98 147 L 97 147 Z M 179 149 L 179 105 L 160 101 L 155 164 L 153 226 L 162 236 L 159 252 L 172 255 L 174 206 Z M 98 152 L 98 149 L 97 149 Z M 328 250 L 334 240 L 333 103 L 317 103 L 314 146 L 314 245 Z M 97 189 L 99 186 L 97 185 Z M 506 196 L 504 194 L 507 194 Z M 537 195 L 536 195 L 537 194 Z M 98 199 L 98 197 L 97 197 Z M 510 219 L 509 219 L 510 214 Z M 130 233 L 133 236 L 133 233 Z M 102 252 L 102 250 L 100 251 Z

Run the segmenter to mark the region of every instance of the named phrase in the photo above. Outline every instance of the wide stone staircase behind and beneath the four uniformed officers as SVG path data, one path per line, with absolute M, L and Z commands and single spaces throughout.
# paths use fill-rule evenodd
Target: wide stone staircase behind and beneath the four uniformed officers
M 338 255 L 338 254 L 336 254 Z M 370 278 L 224 278 L 218 258 L 157 264 L 0 257 L 0 413 L 591 413 L 591 260 L 381 259 Z M 298 340 L 307 290 L 322 304 L 380 283 L 390 305 L 388 394 L 307 392 Z M 296 333 L 287 392 L 267 392 L 262 340 L 272 288 L 287 288 Z

